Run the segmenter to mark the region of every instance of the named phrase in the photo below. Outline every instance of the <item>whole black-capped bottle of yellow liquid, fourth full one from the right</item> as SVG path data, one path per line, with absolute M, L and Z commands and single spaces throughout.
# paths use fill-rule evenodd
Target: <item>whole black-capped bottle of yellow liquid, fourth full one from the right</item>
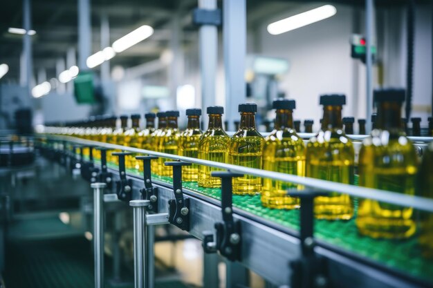
M 230 164 L 261 169 L 265 141 L 255 125 L 257 104 L 239 104 L 238 111 L 241 113 L 241 123 L 239 130 L 230 139 Z M 233 178 L 233 194 L 254 195 L 260 192 L 260 177 L 244 175 Z

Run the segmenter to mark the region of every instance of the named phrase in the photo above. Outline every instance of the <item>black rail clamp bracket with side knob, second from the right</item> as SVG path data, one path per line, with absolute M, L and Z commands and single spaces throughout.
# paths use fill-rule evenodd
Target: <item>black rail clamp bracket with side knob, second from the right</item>
M 206 253 L 219 253 L 230 261 L 241 260 L 241 222 L 233 219 L 232 178 L 241 173 L 214 171 L 212 177 L 221 177 L 221 213 L 223 222 L 215 223 L 216 240 L 212 231 L 203 232 L 203 249 Z

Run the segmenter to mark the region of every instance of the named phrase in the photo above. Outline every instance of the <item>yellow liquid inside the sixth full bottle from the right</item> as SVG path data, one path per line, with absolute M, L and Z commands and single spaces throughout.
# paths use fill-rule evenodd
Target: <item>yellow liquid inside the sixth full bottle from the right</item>
M 180 138 L 179 155 L 185 157 L 198 158 L 200 137 L 201 137 L 201 131 L 199 129 L 188 128 L 185 132 L 183 132 Z M 182 180 L 183 181 L 199 180 L 199 165 L 191 164 L 191 166 L 183 166 Z

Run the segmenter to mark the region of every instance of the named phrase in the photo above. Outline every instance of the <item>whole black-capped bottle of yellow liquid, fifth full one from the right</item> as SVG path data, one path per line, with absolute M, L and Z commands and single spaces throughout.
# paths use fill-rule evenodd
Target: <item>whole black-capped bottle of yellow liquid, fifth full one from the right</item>
M 199 159 L 228 163 L 228 146 L 230 137 L 223 130 L 221 116 L 224 113 L 223 106 L 210 106 L 206 108 L 209 115 L 208 130 L 201 135 L 199 140 Z M 199 166 L 199 186 L 205 188 L 218 188 L 221 186 L 221 178 L 212 177 L 212 171 L 222 169 L 210 166 Z

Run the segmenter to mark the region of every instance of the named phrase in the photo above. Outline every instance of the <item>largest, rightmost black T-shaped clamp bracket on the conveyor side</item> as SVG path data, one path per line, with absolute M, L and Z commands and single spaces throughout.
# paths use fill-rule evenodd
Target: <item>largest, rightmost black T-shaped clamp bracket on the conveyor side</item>
M 288 191 L 288 195 L 299 197 L 300 209 L 300 240 L 301 257 L 290 263 L 293 273 L 290 279 L 293 288 L 326 288 L 329 286 L 326 278 L 326 262 L 324 258 L 317 256 L 314 252 L 314 198 L 327 195 L 325 192 L 302 190 Z

